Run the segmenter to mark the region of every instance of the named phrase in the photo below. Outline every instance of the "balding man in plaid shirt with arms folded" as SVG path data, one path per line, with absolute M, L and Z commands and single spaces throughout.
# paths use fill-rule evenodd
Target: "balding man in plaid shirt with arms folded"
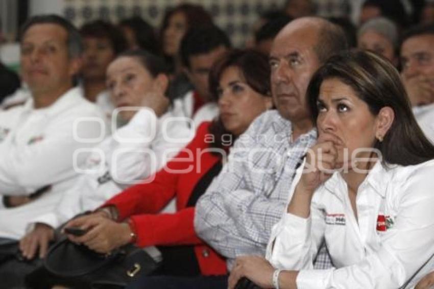
M 307 84 L 321 63 L 346 47 L 342 29 L 316 17 L 293 20 L 274 39 L 270 65 L 277 111 L 260 115 L 240 136 L 196 205 L 196 232 L 228 258 L 229 269 L 239 255 L 265 254 L 295 168 L 317 138 L 305 102 Z M 317 268 L 331 265 L 324 253 Z

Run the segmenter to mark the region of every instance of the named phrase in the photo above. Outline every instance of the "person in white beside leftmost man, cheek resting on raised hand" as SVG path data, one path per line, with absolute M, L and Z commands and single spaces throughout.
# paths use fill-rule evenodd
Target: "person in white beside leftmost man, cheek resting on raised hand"
M 141 81 L 128 87 L 123 81 L 128 76 Z M 20 242 L 26 258 L 32 259 L 38 249 L 39 257 L 44 257 L 49 241 L 55 238 L 54 229 L 160 170 L 189 140 L 187 123 L 170 121 L 174 115 L 167 111 L 168 75 L 161 58 L 144 51 L 120 54 L 108 66 L 107 84 L 120 109 L 118 116 L 128 124 L 95 148 L 86 172 L 65 192 L 55 210 L 29 220 L 36 225 Z

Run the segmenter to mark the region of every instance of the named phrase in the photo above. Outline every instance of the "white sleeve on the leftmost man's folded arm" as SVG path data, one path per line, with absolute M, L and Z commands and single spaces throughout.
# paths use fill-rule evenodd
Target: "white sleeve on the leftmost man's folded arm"
M 93 114 L 91 116 L 97 116 Z M 43 139 L 28 143 L 13 143 L 0 150 L 0 194 L 30 195 L 46 185 L 55 184 L 74 177 L 74 152 L 90 148 L 92 143 L 75 139 L 73 124 L 78 115 L 71 113 L 61 121 L 53 122 L 44 130 Z M 82 138 L 97 138 L 100 125 L 89 122 L 78 127 Z M 4 149 L 7 148 L 7 149 Z M 81 165 L 88 153 L 77 155 L 76 163 Z

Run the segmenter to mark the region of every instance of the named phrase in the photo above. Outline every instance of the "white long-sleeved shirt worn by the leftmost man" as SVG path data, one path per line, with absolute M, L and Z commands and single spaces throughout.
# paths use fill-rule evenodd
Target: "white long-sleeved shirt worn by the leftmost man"
M 0 112 L 0 195 L 31 195 L 51 185 L 26 205 L 5 208 L 1 202 L 0 237 L 21 238 L 29 220 L 55 208 L 62 193 L 75 183 L 74 162 L 82 165 L 88 157 L 82 153 L 74 160 L 74 152 L 105 137 L 98 122 L 102 117 L 78 88 L 46 108 L 34 109 L 29 99 L 23 106 Z M 80 118 L 84 122 L 76 123 Z

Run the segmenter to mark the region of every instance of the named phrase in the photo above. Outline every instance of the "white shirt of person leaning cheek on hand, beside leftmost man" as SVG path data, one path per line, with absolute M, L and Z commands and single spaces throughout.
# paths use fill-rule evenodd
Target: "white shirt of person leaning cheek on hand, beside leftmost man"
M 75 215 L 101 206 L 125 187 L 143 179 L 152 181 L 153 174 L 194 136 L 186 122 L 172 117 L 172 111 L 157 118 L 152 110 L 139 110 L 94 149 L 80 179 L 65 192 L 56 209 L 32 220 L 28 229 L 34 223 L 57 228 Z

